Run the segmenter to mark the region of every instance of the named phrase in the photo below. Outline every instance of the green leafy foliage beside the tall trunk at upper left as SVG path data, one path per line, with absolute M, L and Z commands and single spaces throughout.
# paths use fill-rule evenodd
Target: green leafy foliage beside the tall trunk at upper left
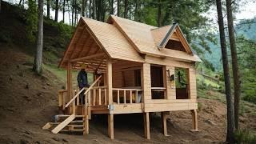
M 35 0 L 28 0 L 29 8 L 26 10 L 26 37 L 35 42 L 38 31 L 38 8 Z

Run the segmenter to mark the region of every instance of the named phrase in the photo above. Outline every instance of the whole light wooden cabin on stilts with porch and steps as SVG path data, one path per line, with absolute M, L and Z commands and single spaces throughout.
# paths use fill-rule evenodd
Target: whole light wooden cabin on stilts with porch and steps
M 141 113 L 145 137 L 150 139 L 150 113 L 161 112 L 167 135 L 170 111 L 190 110 L 192 130 L 198 130 L 195 62 L 200 61 L 177 23 L 155 27 L 114 15 L 107 22 L 80 18 L 59 63 L 67 70 L 66 90 L 58 92 L 58 107 L 64 114 L 43 129 L 54 134 L 89 134 L 91 114 L 108 114 L 108 133 L 113 139 L 115 114 Z M 94 82 L 78 90 L 72 84 L 76 81 L 72 71 L 82 65 L 94 74 Z M 85 103 L 79 102 L 82 91 Z

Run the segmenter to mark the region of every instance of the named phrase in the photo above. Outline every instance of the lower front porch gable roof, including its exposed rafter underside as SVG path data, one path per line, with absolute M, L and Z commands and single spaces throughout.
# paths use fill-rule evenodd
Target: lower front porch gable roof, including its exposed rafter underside
M 59 66 L 65 67 L 68 60 L 81 58 L 90 52 L 90 50 L 82 49 L 100 49 L 98 51 L 104 52 L 110 58 L 145 62 L 138 51 L 134 49 L 115 26 L 90 18 L 80 18 L 73 38 L 71 38 Z

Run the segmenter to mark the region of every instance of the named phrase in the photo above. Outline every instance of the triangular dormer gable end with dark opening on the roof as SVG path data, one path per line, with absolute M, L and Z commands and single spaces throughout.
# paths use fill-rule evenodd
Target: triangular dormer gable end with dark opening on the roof
M 178 26 L 178 23 L 174 23 L 173 26 L 170 27 L 170 30 L 167 32 L 166 36 L 162 39 L 158 49 L 162 50 L 163 48 L 179 50 L 188 54 L 193 54 L 189 43 L 186 41 L 186 38 L 182 33 L 181 28 Z

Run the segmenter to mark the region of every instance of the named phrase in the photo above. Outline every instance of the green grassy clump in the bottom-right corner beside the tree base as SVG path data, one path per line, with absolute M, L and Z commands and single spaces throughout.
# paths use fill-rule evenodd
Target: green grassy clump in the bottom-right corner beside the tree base
M 238 144 L 254 144 L 256 143 L 256 135 L 248 130 L 238 130 L 234 134 L 235 142 Z

